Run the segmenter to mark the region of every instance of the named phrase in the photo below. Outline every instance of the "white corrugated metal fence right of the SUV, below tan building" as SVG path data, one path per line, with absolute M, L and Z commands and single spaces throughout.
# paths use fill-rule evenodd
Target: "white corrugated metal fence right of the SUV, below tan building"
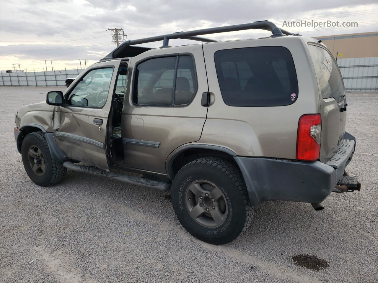
M 378 91 L 378 57 L 338 59 L 346 91 Z

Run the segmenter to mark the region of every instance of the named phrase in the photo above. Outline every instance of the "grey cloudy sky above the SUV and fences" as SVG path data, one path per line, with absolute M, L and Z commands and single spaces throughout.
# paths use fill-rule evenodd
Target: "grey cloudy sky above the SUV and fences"
M 358 3 L 358 4 L 356 4 Z M 114 49 L 112 32 L 123 28 L 129 39 L 175 31 L 270 20 L 288 31 L 324 36 L 378 31 L 376 0 L 0 0 L 0 69 L 42 71 L 87 66 Z M 283 21 L 358 22 L 356 28 L 283 27 Z M 267 32 L 209 35 L 217 40 L 256 38 Z M 170 45 L 185 44 L 171 40 Z M 158 47 L 161 43 L 147 46 Z M 18 67 L 17 67 L 18 68 Z

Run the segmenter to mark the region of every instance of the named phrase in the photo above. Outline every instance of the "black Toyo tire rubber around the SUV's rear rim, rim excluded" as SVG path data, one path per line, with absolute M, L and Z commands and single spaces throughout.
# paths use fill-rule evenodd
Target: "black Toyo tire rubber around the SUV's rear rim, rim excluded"
M 209 181 L 222 190 L 228 205 L 228 215 L 222 225 L 209 228 L 189 214 L 184 198 L 195 180 Z M 242 173 L 237 166 L 222 158 L 203 157 L 185 165 L 175 176 L 171 195 L 174 211 L 186 231 L 215 245 L 226 244 L 239 237 L 254 215 Z

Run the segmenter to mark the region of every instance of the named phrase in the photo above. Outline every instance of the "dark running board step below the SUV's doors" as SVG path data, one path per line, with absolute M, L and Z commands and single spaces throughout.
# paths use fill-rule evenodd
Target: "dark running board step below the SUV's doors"
M 167 192 L 170 190 L 170 184 L 167 184 L 161 181 L 153 181 L 146 178 L 124 175 L 121 173 L 106 172 L 105 170 L 102 170 L 93 166 L 77 165 L 70 161 L 64 162 L 63 166 L 73 171 L 89 173 L 89 174 L 101 176 L 101 177 L 107 177 L 113 180 L 118 180 L 124 183 L 131 184 L 131 185 L 142 186 L 142 187 L 150 188 L 150 189 L 157 189 L 163 192 Z

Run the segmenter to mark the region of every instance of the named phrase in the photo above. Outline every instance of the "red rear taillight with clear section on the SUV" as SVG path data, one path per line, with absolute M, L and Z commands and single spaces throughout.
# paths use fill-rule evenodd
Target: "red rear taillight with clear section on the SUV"
M 299 118 L 297 139 L 297 160 L 314 161 L 319 159 L 322 133 L 320 114 L 306 114 Z

